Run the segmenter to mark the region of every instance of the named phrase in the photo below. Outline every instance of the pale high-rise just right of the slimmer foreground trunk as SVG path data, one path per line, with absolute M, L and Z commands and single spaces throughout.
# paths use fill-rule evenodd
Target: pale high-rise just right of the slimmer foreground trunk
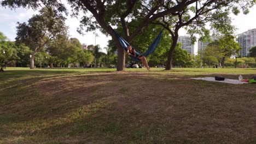
M 189 54 L 194 54 L 195 46 L 191 44 L 191 38 L 189 36 L 180 36 L 178 43 L 182 43 L 183 50 L 187 50 Z

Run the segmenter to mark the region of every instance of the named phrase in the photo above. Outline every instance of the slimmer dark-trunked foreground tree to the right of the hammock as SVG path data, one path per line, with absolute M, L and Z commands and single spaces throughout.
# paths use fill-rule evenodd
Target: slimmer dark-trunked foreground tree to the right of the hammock
M 171 2 L 167 1 L 167 3 Z M 166 70 L 171 69 L 172 54 L 177 45 L 179 29 L 185 27 L 191 35 L 192 41 L 195 41 L 196 33 L 200 34 L 202 38 L 208 38 L 210 31 L 206 29 L 205 26 L 206 23 L 209 22 L 212 29 L 215 29 L 216 31 L 221 33 L 232 33 L 234 27 L 231 26 L 229 17 L 230 11 L 238 14 L 239 7 L 237 5 L 239 4 L 244 13 L 248 13 L 248 8 L 254 3 L 255 1 L 194 1 L 194 3 L 190 4 L 188 7 L 185 7 L 176 13 L 172 13 L 172 15 L 162 16 L 158 21 L 152 22 L 166 28 L 172 36 L 173 43 L 168 51 Z

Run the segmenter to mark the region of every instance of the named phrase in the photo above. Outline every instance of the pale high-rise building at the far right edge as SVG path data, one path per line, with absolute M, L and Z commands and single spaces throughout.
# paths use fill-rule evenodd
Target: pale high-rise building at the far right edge
M 242 47 L 240 52 L 241 57 L 246 57 L 249 54 L 249 50 L 256 46 L 256 28 L 249 29 L 246 32 L 237 35 L 236 41 Z

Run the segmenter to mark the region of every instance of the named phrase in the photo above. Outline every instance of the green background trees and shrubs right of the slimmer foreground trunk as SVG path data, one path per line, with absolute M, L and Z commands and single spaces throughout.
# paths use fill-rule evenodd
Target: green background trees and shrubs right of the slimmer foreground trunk
M 248 57 L 240 57 L 242 47 L 234 40 L 234 36 L 225 35 L 212 41 L 198 55 L 188 55 L 176 47 L 173 56 L 174 67 L 187 68 L 256 68 L 256 46 L 249 50 Z M 180 51 L 180 52 L 178 52 Z M 183 53 L 183 55 L 181 55 Z M 178 61 L 177 61 L 178 59 Z

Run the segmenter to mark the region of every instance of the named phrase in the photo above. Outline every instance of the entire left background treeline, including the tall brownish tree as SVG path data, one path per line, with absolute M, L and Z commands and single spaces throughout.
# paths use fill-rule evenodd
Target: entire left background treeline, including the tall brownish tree
M 116 63 L 114 52 L 99 45 L 83 45 L 68 38 L 66 18 L 51 7 L 42 8 L 28 22 L 19 23 L 15 41 L 0 32 L 0 65 L 4 67 L 98 67 Z M 105 63 L 106 61 L 106 63 Z

